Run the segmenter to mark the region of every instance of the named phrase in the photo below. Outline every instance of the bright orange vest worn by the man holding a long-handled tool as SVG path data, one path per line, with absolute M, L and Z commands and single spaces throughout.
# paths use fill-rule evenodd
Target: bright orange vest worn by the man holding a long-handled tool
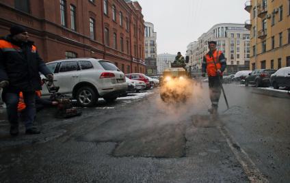
M 217 76 L 217 69 L 222 68 L 222 64 L 220 64 L 219 57 L 222 54 L 222 51 L 214 51 L 213 57 L 210 57 L 209 54 L 205 55 L 205 59 L 207 59 L 207 75 L 208 76 Z M 216 64 L 216 68 L 215 68 Z M 221 74 L 222 75 L 222 74 Z

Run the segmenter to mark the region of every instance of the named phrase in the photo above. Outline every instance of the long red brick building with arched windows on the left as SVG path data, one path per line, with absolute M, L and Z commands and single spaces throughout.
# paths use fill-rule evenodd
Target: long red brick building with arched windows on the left
M 144 19 L 137 1 L 0 0 L 0 36 L 22 25 L 44 61 L 94 57 L 124 73 L 146 72 Z

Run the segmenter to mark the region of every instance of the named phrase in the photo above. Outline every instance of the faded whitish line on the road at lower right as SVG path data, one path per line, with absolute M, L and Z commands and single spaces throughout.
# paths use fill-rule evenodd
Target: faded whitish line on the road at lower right
M 230 135 L 228 130 L 225 127 L 221 127 L 218 125 L 218 129 L 224 138 L 226 139 L 226 143 L 230 147 L 230 150 L 235 154 L 235 157 L 243 167 L 243 171 L 245 171 L 246 175 L 250 182 L 269 182 L 265 175 L 259 171 L 258 167 L 251 160 L 250 156 L 241 148 L 241 145 L 233 140 L 233 137 Z

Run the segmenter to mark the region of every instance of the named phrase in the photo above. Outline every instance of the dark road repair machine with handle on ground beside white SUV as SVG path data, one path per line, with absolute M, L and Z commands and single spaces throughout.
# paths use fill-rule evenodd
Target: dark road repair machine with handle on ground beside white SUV
M 57 112 L 55 117 L 57 118 L 66 118 L 81 115 L 81 108 L 73 107 L 72 100 L 63 94 L 60 94 L 58 90 L 60 87 L 54 85 L 53 81 L 47 79 L 42 79 L 47 90 L 51 93 L 50 100 L 57 101 Z

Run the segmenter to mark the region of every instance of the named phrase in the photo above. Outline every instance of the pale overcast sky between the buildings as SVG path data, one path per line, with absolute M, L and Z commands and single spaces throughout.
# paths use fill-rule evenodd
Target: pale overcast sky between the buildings
M 218 23 L 245 23 L 246 0 L 137 0 L 157 32 L 157 53 L 186 52 L 186 46 Z

